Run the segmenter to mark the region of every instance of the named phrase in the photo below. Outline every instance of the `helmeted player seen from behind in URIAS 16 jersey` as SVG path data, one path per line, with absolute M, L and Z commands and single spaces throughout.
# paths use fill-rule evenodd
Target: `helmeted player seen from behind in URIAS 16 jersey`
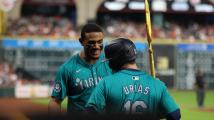
M 109 66 L 116 73 L 105 77 L 86 105 L 98 113 L 149 113 L 159 118 L 180 119 L 180 109 L 163 82 L 137 67 L 136 47 L 126 38 L 113 40 L 105 47 Z

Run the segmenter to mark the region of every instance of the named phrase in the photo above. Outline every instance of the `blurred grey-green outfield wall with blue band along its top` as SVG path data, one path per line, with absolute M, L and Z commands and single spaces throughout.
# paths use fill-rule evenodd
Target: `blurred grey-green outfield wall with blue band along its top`
M 58 67 L 82 49 L 78 41 L 65 39 L 4 38 L 1 44 L 4 59 L 48 84 L 54 80 Z M 149 72 L 147 44 L 135 44 L 137 64 Z M 209 88 L 214 88 L 213 44 L 153 44 L 153 49 L 157 77 L 168 87 L 193 89 L 194 72 L 200 68 L 205 72 Z

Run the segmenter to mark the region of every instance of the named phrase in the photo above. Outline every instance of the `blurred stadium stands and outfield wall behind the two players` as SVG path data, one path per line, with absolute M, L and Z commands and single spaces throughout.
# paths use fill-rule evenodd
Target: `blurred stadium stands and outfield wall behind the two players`
M 214 89 L 214 1 L 149 0 L 157 77 L 168 88 L 193 90 L 195 72 Z M 105 42 L 132 39 L 149 72 L 144 0 L 0 0 L 0 97 L 48 97 L 58 67 L 82 49 L 87 22 Z

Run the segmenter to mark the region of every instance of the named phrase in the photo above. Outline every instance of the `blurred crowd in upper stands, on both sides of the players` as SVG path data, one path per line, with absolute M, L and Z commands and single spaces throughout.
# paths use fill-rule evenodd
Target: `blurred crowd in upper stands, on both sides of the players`
M 111 20 L 103 25 L 107 37 L 145 38 L 145 23 L 133 21 Z M 192 23 L 189 26 L 165 22 L 162 27 L 152 25 L 152 36 L 157 39 L 173 39 L 177 41 L 214 41 L 214 25 Z M 7 35 L 9 36 L 42 36 L 53 38 L 76 38 L 77 28 L 63 17 L 30 16 L 9 21 Z

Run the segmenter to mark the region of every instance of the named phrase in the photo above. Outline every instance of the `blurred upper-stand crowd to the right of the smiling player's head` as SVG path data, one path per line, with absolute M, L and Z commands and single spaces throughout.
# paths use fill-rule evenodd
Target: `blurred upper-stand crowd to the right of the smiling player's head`
M 129 38 L 145 38 L 145 23 L 132 21 L 112 21 L 106 25 L 108 36 L 126 36 Z M 163 27 L 152 26 L 152 36 L 157 39 L 173 39 L 177 41 L 214 41 L 214 25 L 199 25 L 193 23 L 189 26 L 166 22 Z

